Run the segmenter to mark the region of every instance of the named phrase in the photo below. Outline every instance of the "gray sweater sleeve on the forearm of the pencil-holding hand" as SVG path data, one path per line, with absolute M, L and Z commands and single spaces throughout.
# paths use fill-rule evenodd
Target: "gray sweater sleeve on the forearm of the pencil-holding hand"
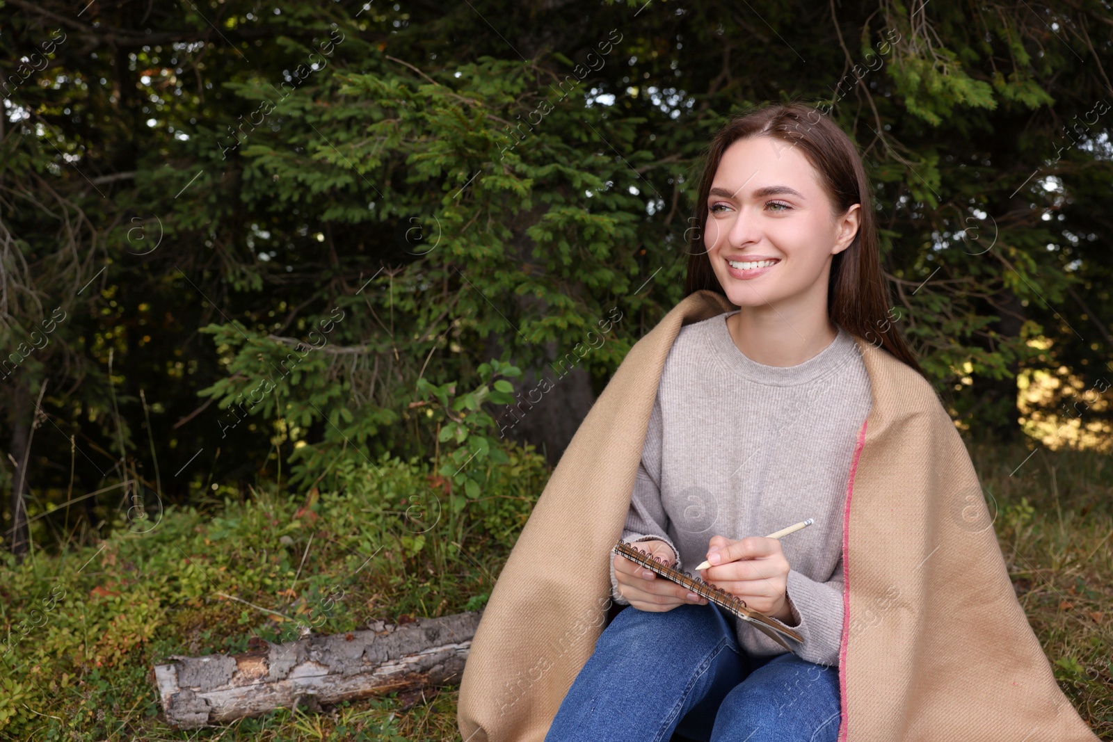
M 785 641 L 801 660 L 838 666 L 839 644 L 843 640 L 843 558 L 839 557 L 831 578 L 827 582 L 816 582 L 796 570 L 789 570 L 786 592 L 792 616 L 790 623 L 778 623 L 798 632 L 804 641 L 796 642 L 788 637 Z M 752 639 L 761 655 L 785 654 L 786 650 L 780 644 L 747 622 L 739 623 L 754 632 Z

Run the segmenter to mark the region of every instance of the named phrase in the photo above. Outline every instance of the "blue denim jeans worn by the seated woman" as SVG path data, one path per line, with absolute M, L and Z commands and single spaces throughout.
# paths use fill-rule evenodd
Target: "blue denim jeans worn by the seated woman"
M 556 711 L 545 742 L 834 742 L 838 667 L 750 657 L 715 604 L 623 609 Z

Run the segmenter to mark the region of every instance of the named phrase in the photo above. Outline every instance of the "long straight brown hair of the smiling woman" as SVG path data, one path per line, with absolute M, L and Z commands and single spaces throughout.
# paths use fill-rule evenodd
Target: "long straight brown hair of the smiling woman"
M 819 172 L 835 214 L 845 214 L 855 204 L 861 205 L 858 234 L 849 247 L 831 259 L 827 314 L 848 333 L 867 342 L 877 345 L 875 338 L 879 338 L 881 347 L 923 375 L 916 356 L 889 315 L 889 291 L 881 271 L 871 191 L 858 148 L 843 129 L 805 103 L 775 103 L 738 116 L 711 139 L 696 199 L 697 227 L 690 230 L 695 237 L 688 243 L 684 296 L 700 289 L 727 294 L 719 285 L 703 244 L 707 198 L 722 154 L 730 145 L 748 137 L 774 137 L 799 147 Z

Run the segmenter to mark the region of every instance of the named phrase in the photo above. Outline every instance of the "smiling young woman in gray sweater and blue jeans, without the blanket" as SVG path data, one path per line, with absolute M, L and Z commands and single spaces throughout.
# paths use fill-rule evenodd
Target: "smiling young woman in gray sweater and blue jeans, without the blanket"
M 919 370 L 889 332 L 869 185 L 850 139 L 775 105 L 712 140 L 686 294 L 739 307 L 680 329 L 622 537 L 792 627 L 748 623 L 621 556 L 618 613 L 546 741 L 831 741 L 840 722 L 843 518 L 870 408 L 853 335 Z M 784 537 L 766 534 L 807 518 Z M 608 557 L 610 558 L 610 556 Z

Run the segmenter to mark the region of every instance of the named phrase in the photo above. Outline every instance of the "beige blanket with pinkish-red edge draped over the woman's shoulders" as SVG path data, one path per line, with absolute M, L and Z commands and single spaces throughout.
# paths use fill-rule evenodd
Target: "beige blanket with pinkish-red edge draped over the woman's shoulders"
M 608 553 L 698 291 L 630 349 L 495 584 L 460 686 L 464 742 L 541 742 L 610 606 Z M 1016 600 L 962 438 L 930 385 L 858 340 L 873 386 L 845 509 L 839 742 L 1092 742 Z M 632 610 L 632 609 L 627 609 Z

